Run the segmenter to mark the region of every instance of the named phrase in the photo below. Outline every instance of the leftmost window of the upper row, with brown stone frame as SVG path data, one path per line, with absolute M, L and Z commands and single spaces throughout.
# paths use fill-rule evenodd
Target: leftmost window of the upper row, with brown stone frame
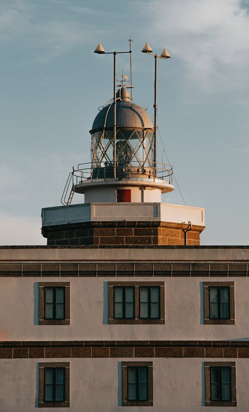
M 70 283 L 39 283 L 39 324 L 69 325 Z

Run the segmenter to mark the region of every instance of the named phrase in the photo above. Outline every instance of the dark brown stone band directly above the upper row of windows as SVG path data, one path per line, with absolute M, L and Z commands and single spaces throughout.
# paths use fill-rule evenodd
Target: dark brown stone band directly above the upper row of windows
M 246 277 L 249 265 L 224 262 L 0 263 L 0 277 Z

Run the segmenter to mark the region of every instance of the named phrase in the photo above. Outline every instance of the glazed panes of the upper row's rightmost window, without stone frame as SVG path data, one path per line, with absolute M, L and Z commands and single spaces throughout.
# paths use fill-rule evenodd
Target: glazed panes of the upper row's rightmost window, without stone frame
M 229 319 L 230 293 L 229 287 L 209 288 L 210 319 Z

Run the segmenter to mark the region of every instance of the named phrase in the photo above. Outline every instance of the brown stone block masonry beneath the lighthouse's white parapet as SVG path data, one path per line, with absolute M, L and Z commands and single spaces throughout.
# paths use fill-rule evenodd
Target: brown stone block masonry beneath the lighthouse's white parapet
M 184 245 L 187 225 L 172 222 L 85 222 L 43 227 L 48 245 Z M 200 245 L 204 226 L 187 232 L 188 246 Z

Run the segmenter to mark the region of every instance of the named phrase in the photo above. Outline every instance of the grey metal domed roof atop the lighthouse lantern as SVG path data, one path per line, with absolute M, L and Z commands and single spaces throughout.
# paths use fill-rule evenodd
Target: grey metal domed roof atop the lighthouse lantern
M 130 129 L 153 129 L 151 118 L 149 117 L 148 113 L 138 104 L 118 100 L 116 113 L 118 127 L 127 127 Z M 103 130 L 105 121 L 106 127 L 112 128 L 113 117 L 114 114 L 112 103 L 103 107 L 103 109 L 97 114 L 93 122 L 92 130 Z M 92 132 L 92 130 L 90 130 L 90 132 Z

